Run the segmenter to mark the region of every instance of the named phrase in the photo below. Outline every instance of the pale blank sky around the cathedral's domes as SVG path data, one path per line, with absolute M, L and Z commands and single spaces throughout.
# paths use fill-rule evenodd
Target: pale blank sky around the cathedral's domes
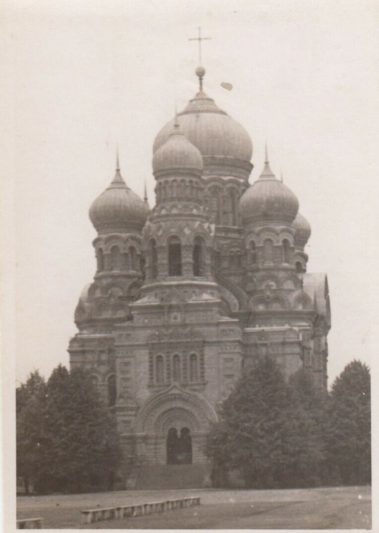
M 95 274 L 88 218 L 114 176 L 154 205 L 154 137 L 197 90 L 252 138 L 299 198 L 308 271 L 329 277 L 329 383 L 372 366 L 378 262 L 378 3 L 4 1 L 3 348 L 16 381 L 68 365 Z M 376 27 L 375 27 L 376 26 Z M 229 82 L 233 90 L 220 84 Z

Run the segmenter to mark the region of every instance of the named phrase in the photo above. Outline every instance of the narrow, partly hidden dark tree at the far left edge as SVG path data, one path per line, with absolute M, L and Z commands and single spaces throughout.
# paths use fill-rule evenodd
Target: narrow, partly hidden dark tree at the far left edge
M 16 470 L 26 494 L 43 463 L 46 382 L 38 370 L 16 389 Z

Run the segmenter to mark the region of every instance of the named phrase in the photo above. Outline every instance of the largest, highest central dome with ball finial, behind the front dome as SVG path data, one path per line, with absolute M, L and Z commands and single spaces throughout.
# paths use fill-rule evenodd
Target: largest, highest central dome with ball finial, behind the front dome
M 205 171 L 209 166 L 228 165 L 233 176 L 233 167 L 240 167 L 237 177 L 248 178 L 252 169 L 250 159 L 252 157 L 252 141 L 245 128 L 228 116 L 220 109 L 214 100 L 203 92 L 203 67 L 196 69 L 196 75 L 200 80 L 200 90 L 196 96 L 188 102 L 182 112 L 178 113 L 178 123 L 181 130 L 201 152 L 204 159 Z M 167 141 L 171 134 L 174 120 L 164 126 L 154 141 L 154 153 Z M 242 167 L 242 176 L 241 176 Z M 217 173 L 216 173 L 217 174 Z

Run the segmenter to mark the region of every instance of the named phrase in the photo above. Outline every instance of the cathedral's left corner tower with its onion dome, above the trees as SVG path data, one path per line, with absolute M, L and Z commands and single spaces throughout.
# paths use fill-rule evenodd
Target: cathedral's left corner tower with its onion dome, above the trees
M 116 173 L 109 187 L 92 203 L 90 220 L 97 230 L 93 241 L 97 269 L 75 309 L 79 333 L 70 340 L 70 365 L 81 365 L 105 402 L 116 403 L 114 325 L 131 319 L 129 303 L 142 285 L 142 228 L 149 206 L 124 182 L 117 154 Z

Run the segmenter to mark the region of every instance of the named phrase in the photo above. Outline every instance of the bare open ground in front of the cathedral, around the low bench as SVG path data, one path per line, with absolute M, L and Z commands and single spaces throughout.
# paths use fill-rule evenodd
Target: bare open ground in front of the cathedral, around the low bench
M 199 495 L 201 505 L 80 526 L 80 510 Z M 18 497 L 17 517 L 56 529 L 369 529 L 368 487 L 290 490 L 141 490 Z

